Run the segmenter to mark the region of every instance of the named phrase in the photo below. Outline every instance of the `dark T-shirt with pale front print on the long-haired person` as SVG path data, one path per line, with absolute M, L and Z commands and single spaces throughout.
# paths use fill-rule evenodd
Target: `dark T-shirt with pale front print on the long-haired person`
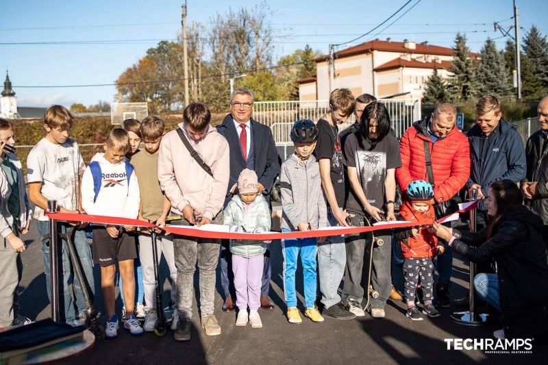
M 386 203 L 384 179 L 390 168 L 401 167 L 399 142 L 390 136 L 384 137 L 371 149 L 371 143 L 363 140 L 363 148 L 358 144 L 358 136 L 351 134 L 345 141 L 345 161 L 347 166 L 356 167 L 358 178 L 369 204 L 383 209 Z M 350 189 L 345 207 L 356 212 L 364 212 L 364 207 Z

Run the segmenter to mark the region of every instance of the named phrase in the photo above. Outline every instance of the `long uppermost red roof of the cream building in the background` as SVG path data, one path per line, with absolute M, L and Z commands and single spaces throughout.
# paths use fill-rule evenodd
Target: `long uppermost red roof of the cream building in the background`
M 386 52 L 398 52 L 398 53 L 414 53 L 421 55 L 453 55 L 453 49 L 448 47 L 440 47 L 434 45 L 428 45 L 423 43 L 414 43 L 414 49 L 407 48 L 407 42 L 392 42 L 389 40 L 370 40 L 364 42 L 361 45 L 349 47 L 335 52 L 335 58 L 348 57 L 350 55 L 359 55 L 362 53 L 369 53 L 371 51 L 386 51 Z M 471 52 L 470 55 L 476 57 L 477 53 Z M 329 59 L 329 55 L 320 55 L 316 57 L 314 61 L 323 62 Z

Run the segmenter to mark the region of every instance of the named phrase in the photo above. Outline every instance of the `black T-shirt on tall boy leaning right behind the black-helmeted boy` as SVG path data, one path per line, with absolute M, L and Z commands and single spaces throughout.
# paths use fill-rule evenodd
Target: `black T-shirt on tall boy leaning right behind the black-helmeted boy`
M 332 127 L 325 119 L 316 123 L 318 140 L 314 155 L 316 160 L 329 158 L 331 160 L 331 182 L 339 207 L 345 203 L 345 168 L 343 166 L 343 150 L 340 148 L 338 127 Z

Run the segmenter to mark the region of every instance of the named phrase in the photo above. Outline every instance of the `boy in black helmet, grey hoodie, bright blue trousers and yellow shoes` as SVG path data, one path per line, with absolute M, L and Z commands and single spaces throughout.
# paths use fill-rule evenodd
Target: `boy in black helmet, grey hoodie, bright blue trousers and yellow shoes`
M 327 226 L 327 207 L 321 190 L 320 168 L 312 155 L 316 147 L 318 128 L 309 119 L 297 121 L 291 128 L 295 153 L 282 164 L 279 177 L 282 192 L 282 232 L 310 231 Z M 316 299 L 316 251 L 321 238 L 290 238 L 282 240 L 284 255 L 284 294 L 289 323 L 302 323 L 297 309 L 295 271 L 301 254 L 304 275 L 305 316 L 313 322 L 323 322 L 314 305 Z

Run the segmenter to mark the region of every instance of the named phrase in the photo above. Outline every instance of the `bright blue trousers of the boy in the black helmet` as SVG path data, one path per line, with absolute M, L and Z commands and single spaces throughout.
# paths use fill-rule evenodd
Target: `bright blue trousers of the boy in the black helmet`
M 282 232 L 289 232 L 282 229 Z M 284 255 L 284 294 L 288 307 L 297 307 L 297 293 L 295 292 L 295 272 L 297 260 L 301 253 L 303 265 L 303 285 L 305 307 L 314 307 L 316 299 L 316 238 L 290 238 L 282 240 L 282 255 Z

